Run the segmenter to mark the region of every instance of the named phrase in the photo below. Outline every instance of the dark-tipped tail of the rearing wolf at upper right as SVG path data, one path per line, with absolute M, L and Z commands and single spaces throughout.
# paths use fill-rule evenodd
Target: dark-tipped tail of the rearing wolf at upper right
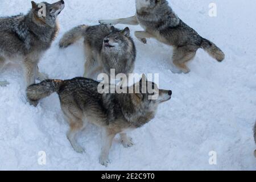
M 221 62 L 225 59 L 224 52 L 222 52 L 220 48 L 218 48 L 214 43 L 210 42 L 209 40 L 203 38 L 201 47 L 203 47 L 203 49 L 217 61 Z

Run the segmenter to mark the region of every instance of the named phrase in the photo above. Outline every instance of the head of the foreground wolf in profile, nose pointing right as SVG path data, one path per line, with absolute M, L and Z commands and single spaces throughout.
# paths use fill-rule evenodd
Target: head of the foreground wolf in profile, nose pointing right
M 171 90 L 159 89 L 157 84 L 147 81 L 144 74 L 141 81 L 135 84 L 133 88 L 135 88 L 134 104 L 144 105 L 152 110 L 155 110 L 159 104 L 171 100 Z

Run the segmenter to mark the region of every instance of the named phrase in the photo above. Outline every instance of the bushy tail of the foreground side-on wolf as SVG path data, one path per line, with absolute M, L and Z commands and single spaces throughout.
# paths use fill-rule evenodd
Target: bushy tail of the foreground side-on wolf
M 31 101 L 39 101 L 53 92 L 58 92 L 62 84 L 63 80 L 44 80 L 40 84 L 30 85 L 27 88 L 27 98 Z

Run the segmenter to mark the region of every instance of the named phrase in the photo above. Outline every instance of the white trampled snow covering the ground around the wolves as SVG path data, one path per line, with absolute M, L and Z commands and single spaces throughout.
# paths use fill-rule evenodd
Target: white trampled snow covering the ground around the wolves
M 53 1 L 49 1 L 53 2 Z M 217 17 L 208 15 L 216 3 Z M 78 24 L 97 24 L 98 19 L 134 15 L 134 0 L 65 0 L 60 14 L 60 34 L 40 61 L 51 78 L 73 78 L 84 72 L 82 42 L 60 50 L 65 31 Z M 0 169 L 20 170 L 255 170 L 253 125 L 256 119 L 256 25 L 254 0 L 172 0 L 170 5 L 199 34 L 223 49 L 223 63 L 199 50 L 189 67 L 191 73 L 171 72 L 172 51 L 168 46 L 137 39 L 136 73 L 160 73 L 160 88 L 172 89 L 172 100 L 159 107 L 156 118 L 130 133 L 136 145 L 123 148 L 118 137 L 110 151 L 112 164 L 98 164 L 100 129 L 90 125 L 79 142 L 85 154 L 73 151 L 66 138 L 68 126 L 56 94 L 38 107 L 26 102 L 22 72 L 8 65 L 0 80 Z M 28 0 L 0 0 L 0 16 L 26 13 Z M 125 26 L 118 25 L 119 28 Z M 132 32 L 141 30 L 130 26 Z M 46 152 L 46 165 L 38 164 L 39 151 Z M 209 152 L 217 165 L 209 165 Z

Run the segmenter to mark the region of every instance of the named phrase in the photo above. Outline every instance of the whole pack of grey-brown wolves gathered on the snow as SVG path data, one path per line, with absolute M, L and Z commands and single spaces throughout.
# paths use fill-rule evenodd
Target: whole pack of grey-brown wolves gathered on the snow
M 173 47 L 172 62 L 178 70 L 175 73 L 190 72 L 187 63 L 195 57 L 199 48 L 219 62 L 225 59 L 224 52 L 184 23 L 168 1 L 135 0 L 134 16 L 99 20 L 100 24 L 95 26 L 82 24 L 66 32 L 60 39 L 61 49 L 84 40 L 84 77 L 49 79 L 39 72 L 38 63 L 59 32 L 57 16 L 64 9 L 65 2 L 43 2 L 43 16 L 40 14 L 42 3 L 32 1 L 31 4 L 32 8 L 26 15 L 0 18 L 0 72 L 8 61 L 20 60 L 27 84 L 27 101 L 31 105 L 37 106 L 42 98 L 54 92 L 59 95 L 61 110 L 69 124 L 67 138 L 76 152 L 85 151 L 77 142 L 77 137 L 88 123 L 100 127 L 102 148 L 99 161 L 103 166 L 110 163 L 109 150 L 114 137 L 119 134 L 124 147 L 133 146 L 133 139 L 127 133 L 150 122 L 158 106 L 171 100 L 172 96 L 171 90 L 159 89 L 144 74 L 139 82 L 126 85 L 133 93 L 98 92 L 100 82 L 97 75 L 110 75 L 114 69 L 115 74 L 122 73 L 129 77 L 136 65 L 137 50 L 129 27 L 119 30 L 114 27 L 115 24 L 140 25 L 143 31 L 135 31 L 134 35 L 141 43 L 147 44 L 147 39 L 154 38 Z M 36 84 L 36 80 L 41 82 Z M 7 84 L 7 81 L 0 82 L 1 86 Z M 148 92 L 149 87 L 153 93 Z M 158 97 L 150 99 L 154 93 L 158 93 Z M 255 132 L 256 124 L 256 142 Z M 256 151 L 254 155 L 256 157 Z

